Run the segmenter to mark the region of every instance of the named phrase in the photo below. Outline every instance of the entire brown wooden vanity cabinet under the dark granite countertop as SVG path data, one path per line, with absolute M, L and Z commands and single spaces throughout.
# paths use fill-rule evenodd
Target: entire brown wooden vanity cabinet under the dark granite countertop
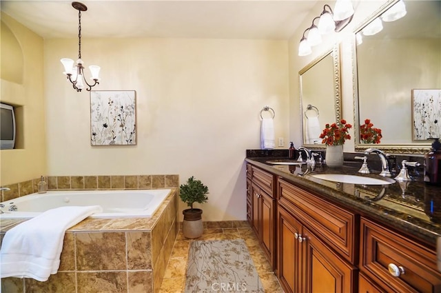
M 285 292 L 441 292 L 433 247 L 247 165 L 247 219 Z

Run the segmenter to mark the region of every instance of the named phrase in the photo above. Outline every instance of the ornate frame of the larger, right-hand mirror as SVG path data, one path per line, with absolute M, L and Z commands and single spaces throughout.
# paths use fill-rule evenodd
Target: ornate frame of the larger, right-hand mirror
M 362 25 L 360 25 L 356 30 L 353 32 L 353 38 L 352 38 L 352 80 L 353 80 L 353 123 L 354 123 L 354 146 L 356 152 L 364 152 L 367 148 L 372 148 L 375 146 L 376 148 L 380 148 L 384 152 L 388 152 L 391 154 L 424 154 L 426 153 L 431 146 L 430 142 L 415 142 L 412 141 L 411 143 L 400 143 L 400 144 L 367 144 L 367 143 L 361 143 L 360 142 L 360 111 L 359 111 L 359 101 L 358 101 L 358 71 L 357 71 L 357 49 L 356 49 L 356 34 L 362 30 L 365 26 L 367 26 L 368 23 L 373 21 L 373 19 L 376 19 L 380 16 L 384 11 L 388 10 L 396 4 L 398 0 L 389 0 L 387 3 L 384 3 L 383 6 L 381 6 L 376 12 L 374 12 L 370 17 L 367 17 L 365 21 L 362 22 Z

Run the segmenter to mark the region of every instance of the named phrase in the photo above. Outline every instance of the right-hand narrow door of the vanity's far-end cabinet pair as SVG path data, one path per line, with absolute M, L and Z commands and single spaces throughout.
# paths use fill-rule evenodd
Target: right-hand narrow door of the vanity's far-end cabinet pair
M 260 239 L 263 252 L 274 269 L 276 263 L 275 235 L 274 235 L 274 199 L 260 190 Z

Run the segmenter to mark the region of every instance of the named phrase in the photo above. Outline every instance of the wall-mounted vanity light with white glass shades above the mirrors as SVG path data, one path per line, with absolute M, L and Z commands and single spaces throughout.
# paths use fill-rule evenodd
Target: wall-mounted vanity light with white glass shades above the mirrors
M 303 32 L 302 39 L 300 39 L 298 56 L 311 54 L 311 47 L 318 45 L 322 41 L 320 34 L 340 32 L 351 22 L 353 17 L 351 0 L 337 0 L 334 10 L 335 12 L 332 11 L 329 5 L 325 4 L 320 17 L 314 17 L 311 26 Z M 314 23 L 316 19 L 318 19 L 318 26 Z M 305 37 L 306 32 L 308 32 L 307 37 Z

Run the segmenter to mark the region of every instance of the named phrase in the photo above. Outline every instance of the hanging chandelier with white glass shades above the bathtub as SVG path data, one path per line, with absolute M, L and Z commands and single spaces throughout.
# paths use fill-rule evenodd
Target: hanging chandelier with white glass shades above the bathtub
M 88 88 L 86 90 L 92 90 L 92 87 L 99 84 L 99 70 L 101 69 L 97 65 L 90 65 L 90 73 L 92 74 L 93 84 L 89 84 L 84 77 L 84 67 L 83 60 L 81 60 L 81 11 L 88 10 L 88 7 L 80 2 L 72 2 L 72 7 L 78 10 L 78 60 L 76 60 L 76 65 L 74 66 L 74 61 L 72 59 L 63 58 L 61 63 L 64 66 L 63 74 L 66 75 L 67 79 L 72 83 L 76 92 L 81 92 L 86 85 Z

